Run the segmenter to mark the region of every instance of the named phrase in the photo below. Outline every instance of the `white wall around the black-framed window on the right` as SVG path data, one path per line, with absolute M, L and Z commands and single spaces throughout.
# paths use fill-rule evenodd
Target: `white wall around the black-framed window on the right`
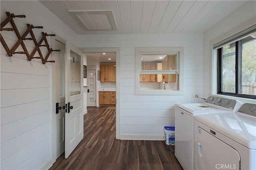
M 230 15 L 224 18 L 224 20 L 220 21 L 214 25 L 214 27 L 204 33 L 204 96 L 209 96 L 209 94 L 212 94 L 212 88 L 216 88 L 217 86 L 216 83 L 214 83 L 212 86 L 212 73 L 216 74 L 216 68 L 213 68 L 214 72 L 212 72 L 213 45 L 255 24 L 256 1 L 248 1 L 236 11 L 232 12 Z M 213 81 L 216 82 L 216 79 L 214 78 Z M 213 94 L 216 94 L 216 91 L 213 91 Z M 254 100 L 244 100 L 243 98 L 234 99 L 240 100 L 243 103 L 255 103 Z

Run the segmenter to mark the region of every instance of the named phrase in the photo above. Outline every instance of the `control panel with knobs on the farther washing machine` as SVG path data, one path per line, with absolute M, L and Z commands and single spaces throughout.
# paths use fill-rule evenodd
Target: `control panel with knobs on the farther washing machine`
M 234 109 L 234 107 L 236 106 L 236 100 L 215 96 L 209 96 L 205 102 L 216 106 L 222 106 L 228 109 Z

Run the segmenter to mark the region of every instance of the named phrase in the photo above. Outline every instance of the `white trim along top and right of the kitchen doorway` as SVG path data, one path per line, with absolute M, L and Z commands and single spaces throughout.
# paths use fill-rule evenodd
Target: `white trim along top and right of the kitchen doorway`
M 116 139 L 121 139 L 120 131 L 120 87 L 121 87 L 121 74 L 120 74 L 120 48 L 78 48 L 83 53 L 103 53 L 115 52 L 116 53 Z

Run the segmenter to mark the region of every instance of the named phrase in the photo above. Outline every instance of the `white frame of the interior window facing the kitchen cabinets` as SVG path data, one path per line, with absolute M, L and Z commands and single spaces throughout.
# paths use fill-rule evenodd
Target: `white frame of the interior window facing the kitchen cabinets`
M 177 70 L 141 70 L 142 55 L 177 55 Z M 140 74 L 178 74 L 178 90 L 140 90 Z M 135 48 L 135 94 L 136 95 L 183 95 L 184 47 L 136 47 Z

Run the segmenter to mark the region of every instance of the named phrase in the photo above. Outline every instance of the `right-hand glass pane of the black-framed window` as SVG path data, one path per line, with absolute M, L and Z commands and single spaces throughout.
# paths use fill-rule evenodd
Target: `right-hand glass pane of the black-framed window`
M 242 40 L 240 94 L 256 95 L 256 34 Z

